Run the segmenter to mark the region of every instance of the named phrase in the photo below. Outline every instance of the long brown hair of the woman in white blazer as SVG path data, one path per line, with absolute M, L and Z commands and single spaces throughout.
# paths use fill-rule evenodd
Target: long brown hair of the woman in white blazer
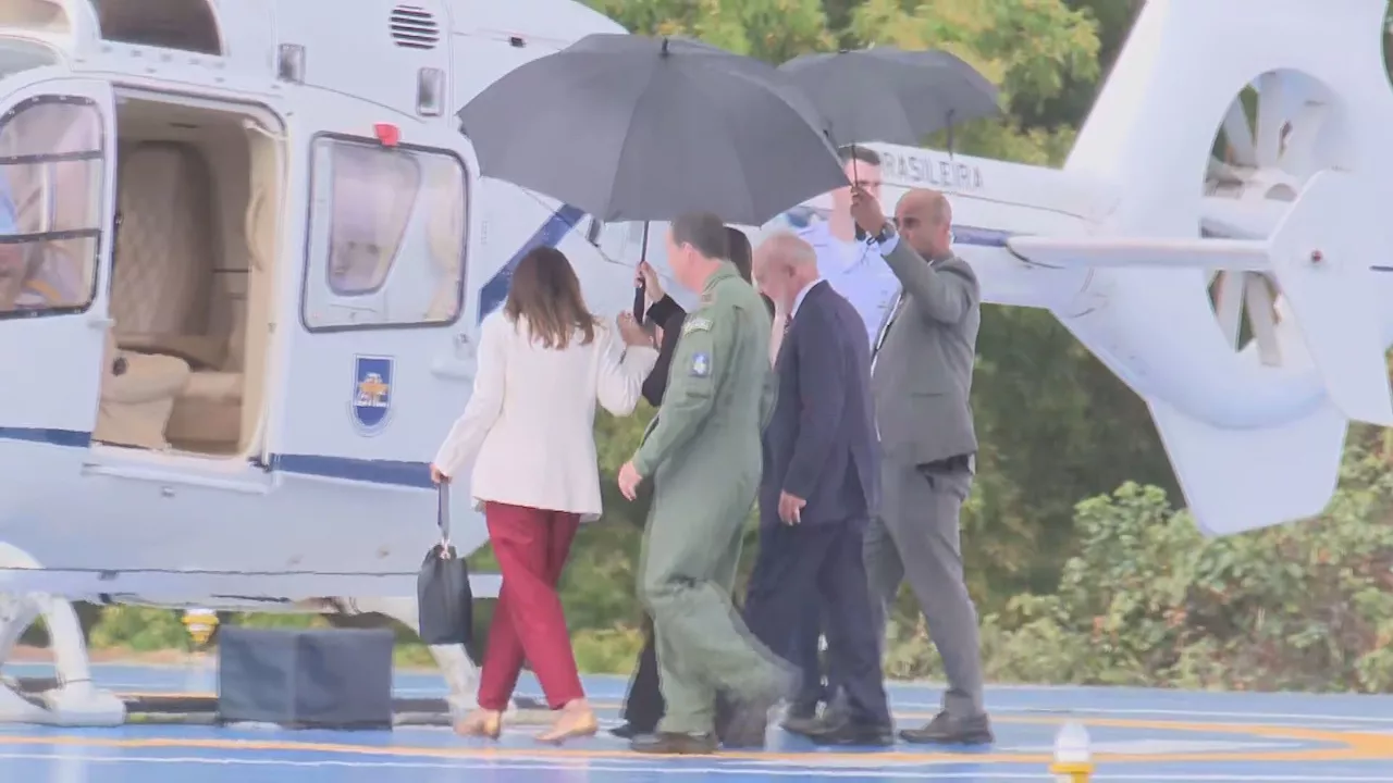
M 571 336 L 581 332 L 581 344 L 595 340 L 595 316 L 585 307 L 581 281 L 566 254 L 556 248 L 535 248 L 513 270 L 508 301 L 503 305 L 508 320 L 527 319 L 531 337 L 543 348 L 566 348 Z

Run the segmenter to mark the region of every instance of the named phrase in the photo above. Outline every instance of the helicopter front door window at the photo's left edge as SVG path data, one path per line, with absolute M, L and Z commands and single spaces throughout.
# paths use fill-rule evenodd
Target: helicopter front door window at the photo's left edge
M 0 117 L 0 316 L 86 309 L 102 237 L 96 104 L 26 100 Z

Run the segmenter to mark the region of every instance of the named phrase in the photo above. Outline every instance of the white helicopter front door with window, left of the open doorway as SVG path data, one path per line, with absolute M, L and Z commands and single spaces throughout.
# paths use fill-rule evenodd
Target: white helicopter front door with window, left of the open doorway
M 100 429 L 114 355 L 111 86 L 67 74 L 0 81 L 0 458 L 63 470 Z

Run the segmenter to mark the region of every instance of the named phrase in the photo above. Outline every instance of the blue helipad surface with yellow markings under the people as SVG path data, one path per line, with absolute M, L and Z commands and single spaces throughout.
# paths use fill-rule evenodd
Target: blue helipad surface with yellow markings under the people
M 43 667 L 8 666 L 11 676 Z M 208 692 L 210 672 L 98 666 L 100 685 L 118 692 Z M 613 726 L 625 681 L 586 680 Z M 437 677 L 403 674 L 398 695 L 442 695 Z M 521 694 L 539 692 L 528 679 Z M 901 726 L 926 720 L 932 685 L 894 685 Z M 508 780 L 517 783 L 638 783 L 680 776 L 683 783 L 812 779 L 1049 780 L 1055 731 L 1073 716 L 1094 740 L 1094 780 L 1133 782 L 1393 782 L 1393 697 L 1206 694 L 1126 688 L 1000 687 L 988 706 L 997 743 L 978 751 L 898 745 L 886 751 L 827 751 L 779 736 L 763 752 L 666 759 L 628 751 L 602 734 L 561 748 L 538 745 L 538 726 L 506 730 L 499 743 L 465 740 L 446 729 L 380 733 L 286 731 L 132 724 L 72 730 L 0 727 L 0 780 L 24 783 L 199 783 Z

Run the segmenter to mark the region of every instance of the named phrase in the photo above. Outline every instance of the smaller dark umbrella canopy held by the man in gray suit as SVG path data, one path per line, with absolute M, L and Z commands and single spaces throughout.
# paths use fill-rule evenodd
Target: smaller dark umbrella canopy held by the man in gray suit
M 947 52 L 804 54 L 779 70 L 808 95 L 837 145 L 918 146 L 937 130 L 1000 113 L 996 86 Z

